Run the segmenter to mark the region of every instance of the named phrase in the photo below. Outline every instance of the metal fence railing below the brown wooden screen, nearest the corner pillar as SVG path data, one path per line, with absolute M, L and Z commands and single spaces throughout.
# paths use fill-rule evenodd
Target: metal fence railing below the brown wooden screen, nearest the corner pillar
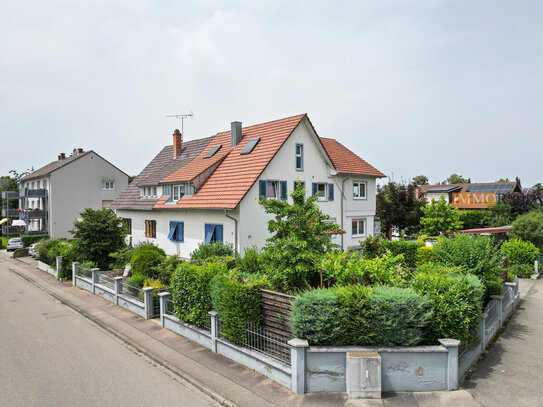
M 224 338 L 221 328 L 222 323 L 219 320 L 219 337 Z M 247 323 L 245 326 L 245 340 L 238 345 L 290 366 L 290 346 L 287 340 L 260 325 Z

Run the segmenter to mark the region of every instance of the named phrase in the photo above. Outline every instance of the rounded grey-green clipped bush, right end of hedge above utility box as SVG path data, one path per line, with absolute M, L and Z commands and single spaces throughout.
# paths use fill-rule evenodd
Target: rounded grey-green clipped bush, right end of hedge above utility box
M 372 343 L 378 346 L 415 346 L 431 322 L 430 301 L 410 288 L 378 287 L 368 300 Z

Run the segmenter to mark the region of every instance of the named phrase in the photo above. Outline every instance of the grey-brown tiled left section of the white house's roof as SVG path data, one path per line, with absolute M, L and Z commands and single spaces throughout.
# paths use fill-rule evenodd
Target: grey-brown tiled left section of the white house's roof
M 151 210 L 158 201 L 156 199 L 140 199 L 140 187 L 158 185 L 158 183 L 179 168 L 191 162 L 211 142 L 213 137 L 184 141 L 183 150 L 177 158 L 173 158 L 173 145 L 166 146 L 143 169 L 143 171 L 113 201 L 114 209 Z

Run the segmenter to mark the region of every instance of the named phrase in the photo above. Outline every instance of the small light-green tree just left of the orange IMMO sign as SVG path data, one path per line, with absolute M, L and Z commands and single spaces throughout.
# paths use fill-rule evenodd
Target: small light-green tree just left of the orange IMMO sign
M 441 196 L 438 202 L 432 199 L 430 205 L 422 208 L 422 213 L 420 224 L 427 235 L 437 236 L 443 232 L 454 232 L 462 228 L 458 209 L 447 205 L 444 196 Z

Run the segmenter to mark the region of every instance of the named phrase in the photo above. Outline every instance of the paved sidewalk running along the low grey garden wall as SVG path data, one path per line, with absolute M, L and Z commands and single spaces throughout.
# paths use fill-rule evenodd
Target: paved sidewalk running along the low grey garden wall
M 8 259 L 0 252 L 0 266 L 9 269 L 89 318 L 114 336 L 141 350 L 156 363 L 192 383 L 224 405 L 239 406 L 480 406 L 467 390 L 384 394 L 381 400 L 350 400 L 345 393 L 295 395 L 287 388 L 195 344 L 91 293 L 57 281 L 36 268 L 31 258 Z M 530 284 L 531 285 L 531 284 Z M 522 305 L 521 305 L 522 306 Z M 543 338 L 543 335 L 540 335 Z M 537 349 L 537 348 L 534 348 Z M 479 370 L 484 370 L 480 367 Z M 537 377 L 537 374 L 534 374 Z M 486 386 L 486 385 L 485 385 Z M 510 388 L 510 387 L 509 387 Z M 477 394 L 473 393 L 476 398 Z M 485 405 L 495 405 L 487 404 Z

